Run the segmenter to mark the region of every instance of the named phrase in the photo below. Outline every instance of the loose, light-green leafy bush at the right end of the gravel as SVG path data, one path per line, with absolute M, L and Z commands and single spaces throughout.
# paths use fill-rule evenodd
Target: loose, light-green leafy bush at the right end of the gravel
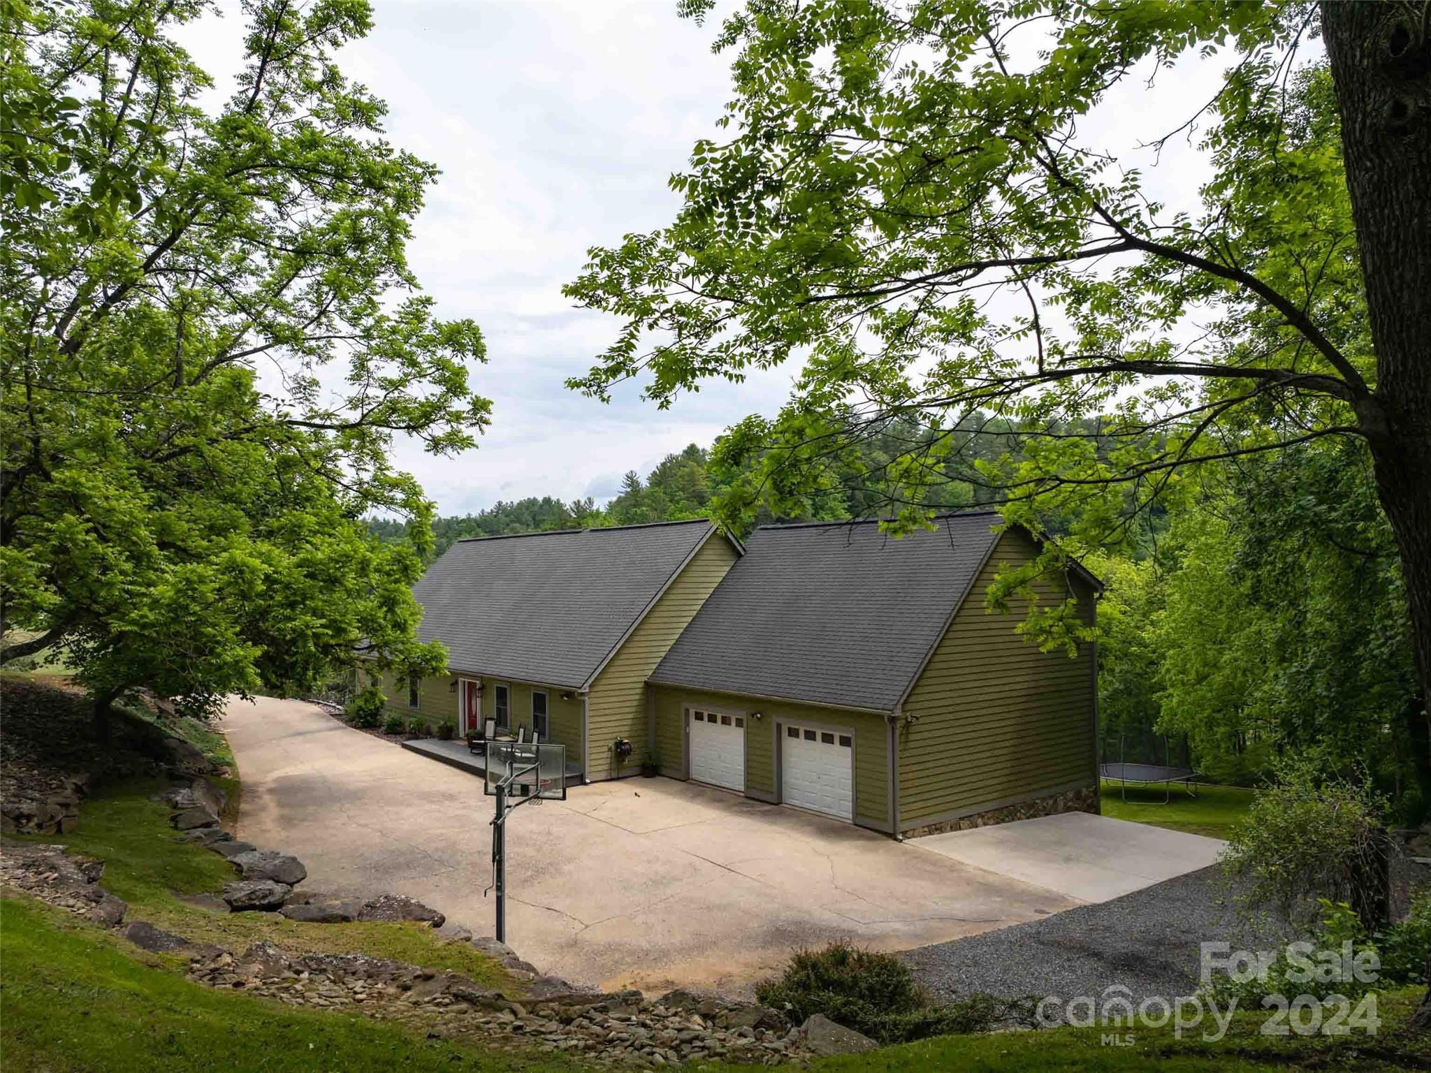
M 1317 898 L 1347 903 L 1367 931 L 1385 921 L 1388 837 L 1367 787 L 1292 763 L 1252 801 L 1222 854 L 1224 887 L 1244 914 L 1278 908 L 1311 930 Z

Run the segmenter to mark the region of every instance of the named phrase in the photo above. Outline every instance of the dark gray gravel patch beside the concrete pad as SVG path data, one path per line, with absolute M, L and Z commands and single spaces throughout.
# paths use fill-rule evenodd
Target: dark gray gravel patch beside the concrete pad
M 1098 996 L 1122 984 L 1132 1001 L 1192 994 L 1201 943 L 1234 950 L 1269 949 L 1284 929 L 1251 934 L 1215 901 L 1216 867 L 1179 876 L 1112 901 L 1065 910 L 1046 920 L 919 947 L 903 954 L 939 999 L 975 991 L 1005 999 Z

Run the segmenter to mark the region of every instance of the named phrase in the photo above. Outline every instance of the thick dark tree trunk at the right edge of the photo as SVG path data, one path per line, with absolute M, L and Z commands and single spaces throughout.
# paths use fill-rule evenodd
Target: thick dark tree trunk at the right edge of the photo
M 1431 20 L 1421 3 L 1327 0 L 1377 386 L 1357 405 L 1401 551 L 1421 697 L 1431 698 Z M 1431 712 L 1422 718 L 1431 720 Z M 1411 1024 L 1431 1029 L 1431 989 Z

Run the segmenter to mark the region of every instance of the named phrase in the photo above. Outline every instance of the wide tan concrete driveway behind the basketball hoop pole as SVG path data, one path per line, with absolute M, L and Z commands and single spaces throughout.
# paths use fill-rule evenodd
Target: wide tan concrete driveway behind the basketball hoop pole
M 233 701 L 239 836 L 298 854 L 305 886 L 408 894 L 491 934 L 481 781 L 312 704 Z M 508 821 L 508 941 L 607 987 L 746 993 L 791 947 L 903 950 L 1079 904 L 1046 887 L 791 808 L 667 778 L 575 787 Z

